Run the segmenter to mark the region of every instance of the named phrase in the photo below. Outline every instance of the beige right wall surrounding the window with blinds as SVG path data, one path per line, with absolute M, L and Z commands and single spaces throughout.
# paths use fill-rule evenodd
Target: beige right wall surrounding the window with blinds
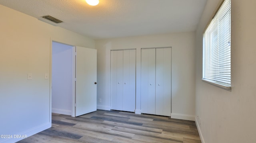
M 205 143 L 256 141 L 256 1 L 231 0 L 232 91 L 202 82 L 202 33 L 221 0 L 208 0 L 196 31 L 196 116 Z

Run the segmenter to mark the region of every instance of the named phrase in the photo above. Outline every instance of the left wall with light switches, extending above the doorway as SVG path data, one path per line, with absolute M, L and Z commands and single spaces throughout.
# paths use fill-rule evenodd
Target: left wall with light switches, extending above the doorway
M 94 40 L 2 5 L 0 17 L 0 135 L 29 136 L 51 126 L 51 39 L 88 48 Z

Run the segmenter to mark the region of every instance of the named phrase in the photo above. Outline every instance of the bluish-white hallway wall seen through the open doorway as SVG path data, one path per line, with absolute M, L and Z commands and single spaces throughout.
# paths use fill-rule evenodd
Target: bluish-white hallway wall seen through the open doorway
M 71 45 L 52 42 L 52 112 L 71 116 L 72 54 Z

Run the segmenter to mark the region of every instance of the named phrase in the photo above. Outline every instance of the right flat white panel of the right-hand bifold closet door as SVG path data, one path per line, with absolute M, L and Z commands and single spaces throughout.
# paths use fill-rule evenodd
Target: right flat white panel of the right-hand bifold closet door
M 171 48 L 156 49 L 156 115 L 171 114 Z

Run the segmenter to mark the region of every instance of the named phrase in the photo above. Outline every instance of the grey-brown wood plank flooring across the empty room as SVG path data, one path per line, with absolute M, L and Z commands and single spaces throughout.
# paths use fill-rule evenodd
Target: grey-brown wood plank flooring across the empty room
M 97 110 L 52 114 L 52 127 L 18 143 L 201 143 L 196 123 L 165 116 Z

